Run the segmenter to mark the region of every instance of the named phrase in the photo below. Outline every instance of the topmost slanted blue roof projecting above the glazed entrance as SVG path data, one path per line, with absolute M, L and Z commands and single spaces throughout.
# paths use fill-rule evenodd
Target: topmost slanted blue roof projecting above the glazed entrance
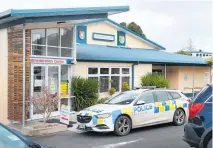
M 94 17 L 93 19 L 100 19 L 103 16 L 121 13 L 129 11 L 129 6 L 110 6 L 110 7 L 82 7 L 82 8 L 56 8 L 56 9 L 10 9 L 4 12 L 0 12 L 0 26 L 5 23 L 13 22 L 15 20 L 23 20 L 24 18 L 30 18 L 31 21 L 34 18 L 45 18 L 47 17 L 64 17 L 64 16 L 81 16 L 81 15 L 102 15 L 102 17 Z M 51 18 L 53 19 L 53 18 Z M 75 18 L 75 19 L 81 19 Z M 90 19 L 88 17 L 88 19 Z M 43 21 L 45 21 L 43 20 Z M 38 21 L 38 20 L 37 20 Z M 53 19 L 53 21 L 55 21 Z M 23 23 L 23 21 L 19 21 Z M 30 20 L 25 23 L 29 23 Z

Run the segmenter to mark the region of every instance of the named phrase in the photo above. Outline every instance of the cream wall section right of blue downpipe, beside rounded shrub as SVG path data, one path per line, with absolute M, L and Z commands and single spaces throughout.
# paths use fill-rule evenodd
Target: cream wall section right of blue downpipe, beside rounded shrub
M 152 72 L 152 64 L 135 65 L 134 69 L 134 86 L 141 87 L 141 77 L 149 72 Z

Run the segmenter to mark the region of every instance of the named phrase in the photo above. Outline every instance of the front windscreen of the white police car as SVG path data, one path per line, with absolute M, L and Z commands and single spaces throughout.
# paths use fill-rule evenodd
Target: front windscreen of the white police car
M 110 99 L 106 104 L 119 104 L 119 105 L 125 105 L 132 103 L 137 96 L 139 96 L 140 93 L 137 92 L 125 92 L 121 93 L 112 99 Z

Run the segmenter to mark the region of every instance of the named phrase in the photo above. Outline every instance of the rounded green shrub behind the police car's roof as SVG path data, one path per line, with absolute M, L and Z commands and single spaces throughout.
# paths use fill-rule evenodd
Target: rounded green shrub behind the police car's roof
M 157 73 L 148 73 L 141 77 L 141 86 L 156 86 L 157 88 L 168 88 L 169 81 Z

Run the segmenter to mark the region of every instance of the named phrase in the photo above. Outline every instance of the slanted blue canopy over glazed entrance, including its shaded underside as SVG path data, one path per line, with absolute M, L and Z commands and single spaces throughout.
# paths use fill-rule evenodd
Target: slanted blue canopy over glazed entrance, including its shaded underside
M 0 13 L 0 29 L 19 24 L 79 20 L 77 23 L 91 19 L 107 18 L 108 15 L 129 11 L 128 6 L 81 7 L 57 9 L 11 9 Z

